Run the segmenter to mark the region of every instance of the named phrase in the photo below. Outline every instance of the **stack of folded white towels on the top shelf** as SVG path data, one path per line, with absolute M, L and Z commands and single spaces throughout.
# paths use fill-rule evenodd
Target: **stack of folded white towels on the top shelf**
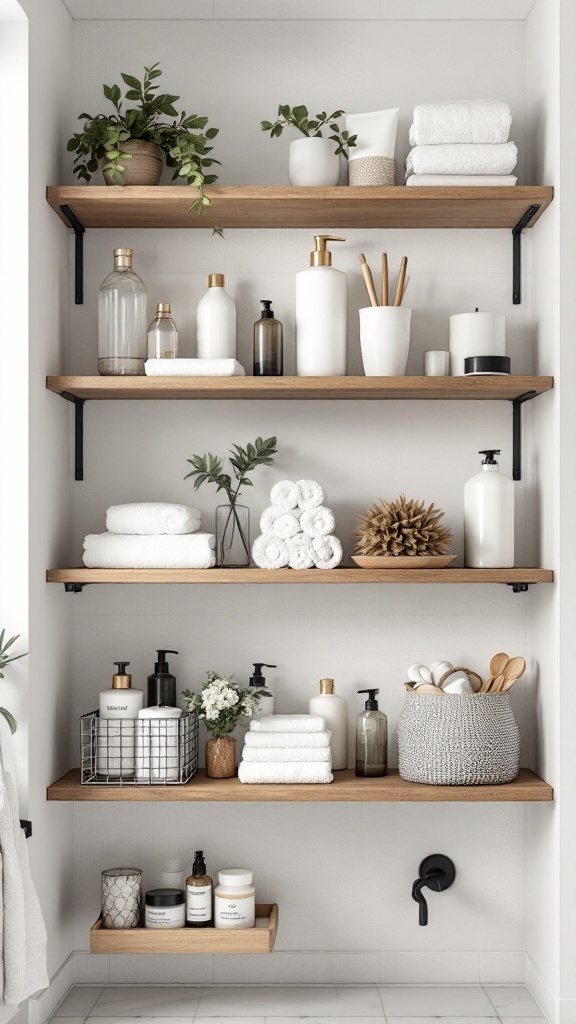
M 414 109 L 407 185 L 515 185 L 511 113 L 497 100 L 422 103 Z

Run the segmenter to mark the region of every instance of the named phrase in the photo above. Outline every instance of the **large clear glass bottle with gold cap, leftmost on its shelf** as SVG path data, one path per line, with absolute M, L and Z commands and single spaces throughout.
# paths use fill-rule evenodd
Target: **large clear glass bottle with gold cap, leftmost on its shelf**
M 98 292 L 98 373 L 143 374 L 147 289 L 132 270 L 132 250 L 114 250 L 114 270 Z

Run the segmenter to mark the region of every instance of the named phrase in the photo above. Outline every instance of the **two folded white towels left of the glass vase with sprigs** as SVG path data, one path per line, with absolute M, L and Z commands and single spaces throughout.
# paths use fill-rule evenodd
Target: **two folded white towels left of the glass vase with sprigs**
M 214 535 L 200 532 L 200 512 L 188 505 L 112 505 L 106 526 L 106 534 L 84 538 L 88 568 L 209 569 L 215 563 Z

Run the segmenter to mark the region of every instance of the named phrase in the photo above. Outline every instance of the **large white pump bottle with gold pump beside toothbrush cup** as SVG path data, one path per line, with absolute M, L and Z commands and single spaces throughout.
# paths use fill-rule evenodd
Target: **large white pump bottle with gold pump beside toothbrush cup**
M 296 373 L 298 377 L 344 377 L 346 373 L 347 274 L 332 266 L 327 242 L 315 234 L 307 270 L 296 274 Z

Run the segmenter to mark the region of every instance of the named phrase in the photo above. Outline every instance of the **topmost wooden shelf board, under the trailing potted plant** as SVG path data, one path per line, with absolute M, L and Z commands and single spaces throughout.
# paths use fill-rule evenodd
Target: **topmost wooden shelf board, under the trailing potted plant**
M 206 189 L 210 218 L 220 227 L 507 227 L 529 206 L 551 203 L 553 188 L 336 186 L 299 188 L 276 185 L 224 185 Z M 204 227 L 206 217 L 190 212 L 196 194 L 171 185 L 52 185 L 46 199 L 68 221 L 68 206 L 84 227 Z

